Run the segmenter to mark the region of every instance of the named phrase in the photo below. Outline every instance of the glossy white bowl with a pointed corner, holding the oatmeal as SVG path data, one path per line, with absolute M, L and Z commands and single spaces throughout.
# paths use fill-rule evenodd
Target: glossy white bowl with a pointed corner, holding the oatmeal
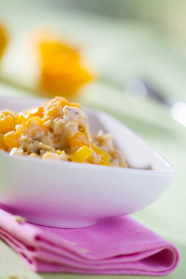
M 45 99 L 0 97 L 0 109 L 21 111 Z M 91 129 L 111 132 L 131 168 L 9 156 L 0 151 L 0 207 L 49 227 L 80 228 L 128 215 L 161 197 L 174 167 L 124 124 L 83 108 Z M 148 170 L 146 168 L 150 168 Z

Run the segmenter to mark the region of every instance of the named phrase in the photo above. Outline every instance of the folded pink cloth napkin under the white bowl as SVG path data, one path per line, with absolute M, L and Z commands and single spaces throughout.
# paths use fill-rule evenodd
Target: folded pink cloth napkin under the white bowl
M 173 271 L 180 259 L 174 244 L 129 216 L 58 229 L 19 223 L 0 209 L 0 236 L 40 272 L 158 276 Z

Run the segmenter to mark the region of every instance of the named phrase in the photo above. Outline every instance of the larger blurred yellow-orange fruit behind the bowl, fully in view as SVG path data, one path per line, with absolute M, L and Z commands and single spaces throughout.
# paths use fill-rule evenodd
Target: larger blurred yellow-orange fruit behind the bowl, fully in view
M 41 88 L 43 91 L 73 95 L 90 80 L 90 74 L 83 69 L 78 53 L 55 40 L 43 40 L 39 44 L 41 57 Z

